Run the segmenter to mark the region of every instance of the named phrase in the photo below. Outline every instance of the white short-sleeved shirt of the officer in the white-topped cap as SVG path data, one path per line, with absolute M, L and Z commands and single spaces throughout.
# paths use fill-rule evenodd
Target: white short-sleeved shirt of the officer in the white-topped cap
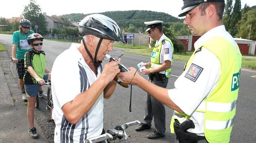
M 163 34 L 159 40 L 156 40 L 155 47 L 159 46 L 161 42 L 164 40 L 164 38 L 167 38 L 165 34 Z M 165 42 L 165 44 L 162 43 L 159 63 L 163 64 L 166 60 L 169 60 L 172 62 L 172 53 L 173 51 L 172 51 L 171 43 L 169 41 Z M 165 74 L 165 71 L 160 71 L 159 73 Z

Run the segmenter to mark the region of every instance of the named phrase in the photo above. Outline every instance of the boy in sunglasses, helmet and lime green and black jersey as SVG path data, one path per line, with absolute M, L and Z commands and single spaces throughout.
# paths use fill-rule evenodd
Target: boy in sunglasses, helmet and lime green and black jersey
M 39 87 L 45 84 L 44 80 L 51 78 L 51 71 L 46 68 L 46 55 L 43 52 L 43 37 L 40 34 L 34 33 L 28 36 L 28 44 L 32 50 L 25 54 L 25 75 L 24 84 L 26 96 L 28 97 L 28 123 L 29 135 L 31 138 L 38 138 L 37 130 L 34 126 L 34 109 L 35 100 L 38 95 Z M 44 74 L 47 73 L 47 74 Z

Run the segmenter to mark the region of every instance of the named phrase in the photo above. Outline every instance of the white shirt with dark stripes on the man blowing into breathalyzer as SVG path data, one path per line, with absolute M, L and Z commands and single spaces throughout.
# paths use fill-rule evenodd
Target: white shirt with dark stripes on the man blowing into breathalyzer
M 52 67 L 52 99 L 54 108 L 52 118 L 56 124 L 54 142 L 84 142 L 85 139 L 98 136 L 103 128 L 103 93 L 93 107 L 78 123 L 70 124 L 61 107 L 72 101 L 78 94 L 87 90 L 101 74 L 102 65 L 98 68 L 98 76 L 85 63 L 78 51 L 79 44 L 70 46 L 59 55 Z

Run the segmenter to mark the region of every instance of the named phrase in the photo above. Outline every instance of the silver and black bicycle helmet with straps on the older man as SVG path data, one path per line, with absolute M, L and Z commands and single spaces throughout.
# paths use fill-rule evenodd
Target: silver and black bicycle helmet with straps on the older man
M 100 44 L 102 40 L 108 39 L 108 40 L 114 40 L 114 41 L 121 41 L 125 43 L 124 38 L 122 37 L 122 32 L 119 26 L 117 25 L 117 23 L 113 21 L 113 19 L 105 15 L 101 15 L 101 14 L 88 15 L 87 17 L 82 19 L 82 21 L 79 23 L 78 31 L 81 36 L 91 34 L 100 38 L 100 41 L 95 50 L 94 59 L 86 47 L 85 40 L 82 39 L 85 50 L 89 55 L 89 57 L 91 58 L 91 60 L 93 61 L 96 74 L 98 74 L 98 67 L 102 63 L 102 61 L 96 61 L 96 57 L 97 57 L 98 50 L 100 48 Z

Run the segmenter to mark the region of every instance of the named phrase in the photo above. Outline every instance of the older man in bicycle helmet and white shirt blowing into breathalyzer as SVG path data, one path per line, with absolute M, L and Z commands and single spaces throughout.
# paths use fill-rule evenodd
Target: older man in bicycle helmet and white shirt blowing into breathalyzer
M 100 14 L 88 15 L 80 22 L 81 44 L 72 43 L 52 67 L 52 118 L 56 124 L 54 142 L 83 142 L 103 132 L 103 98 L 115 90 L 119 62 L 102 68 L 114 41 L 124 42 L 115 21 Z

